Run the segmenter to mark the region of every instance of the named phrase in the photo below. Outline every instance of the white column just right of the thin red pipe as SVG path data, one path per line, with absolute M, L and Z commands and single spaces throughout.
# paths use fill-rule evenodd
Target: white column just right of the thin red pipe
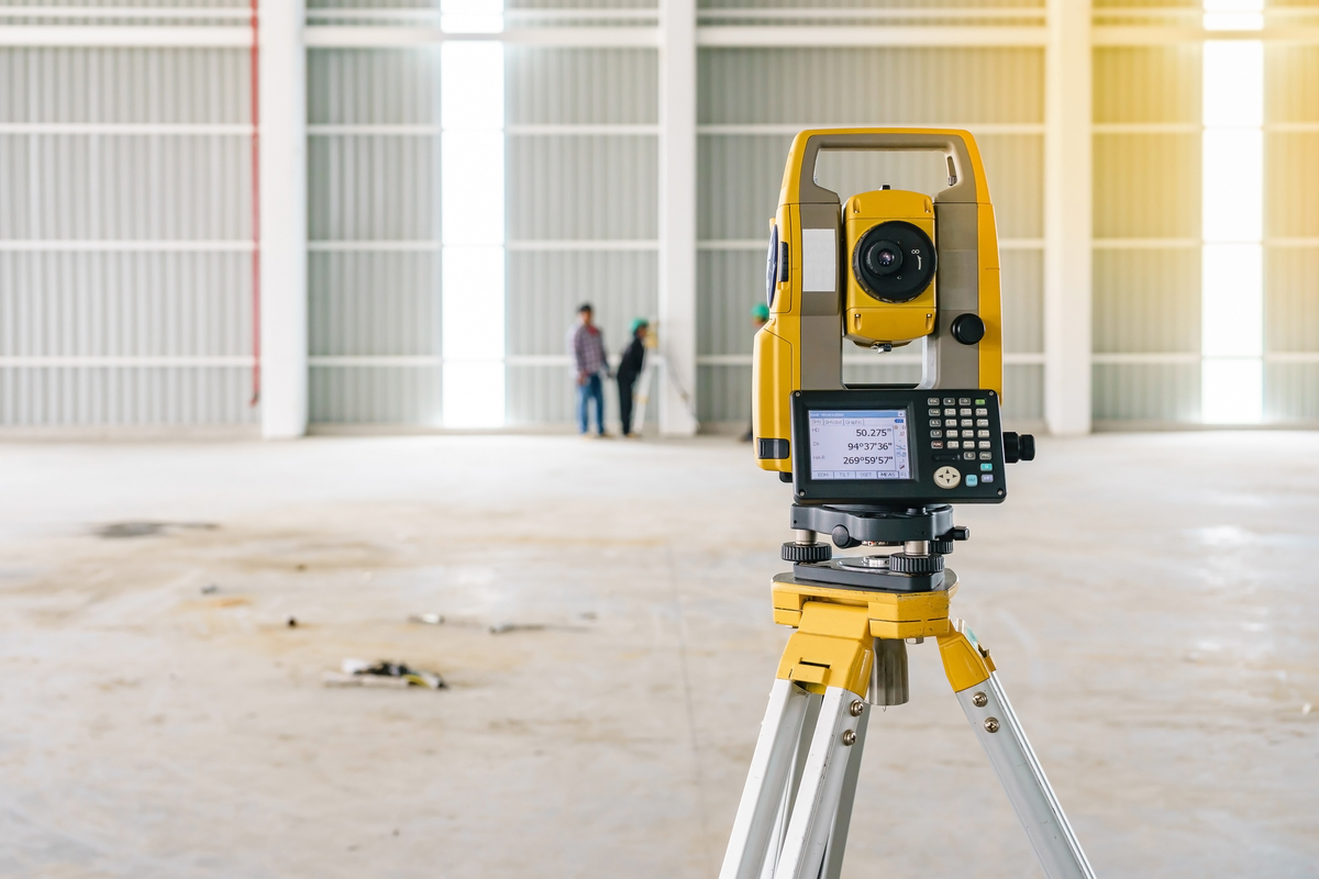
M 260 5 L 261 435 L 307 430 L 307 55 L 303 0 Z

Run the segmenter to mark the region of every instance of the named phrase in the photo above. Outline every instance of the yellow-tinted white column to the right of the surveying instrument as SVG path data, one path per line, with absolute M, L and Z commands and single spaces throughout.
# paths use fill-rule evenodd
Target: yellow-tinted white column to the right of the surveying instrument
M 1045 50 L 1045 419 L 1091 428 L 1091 1 L 1049 1 Z

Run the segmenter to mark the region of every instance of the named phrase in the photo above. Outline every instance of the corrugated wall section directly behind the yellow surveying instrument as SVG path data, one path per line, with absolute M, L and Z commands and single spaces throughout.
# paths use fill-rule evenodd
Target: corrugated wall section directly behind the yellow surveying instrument
M 764 240 L 787 148 L 798 129 L 831 124 L 979 129 L 1004 244 L 1006 411 L 1042 418 L 1042 50 L 704 49 L 698 82 L 703 420 L 748 418 L 751 307 L 764 297 Z M 844 199 L 882 183 L 931 194 L 947 184 L 935 157 L 911 154 L 826 154 L 818 175 Z M 910 360 L 856 349 L 845 377 L 915 381 Z

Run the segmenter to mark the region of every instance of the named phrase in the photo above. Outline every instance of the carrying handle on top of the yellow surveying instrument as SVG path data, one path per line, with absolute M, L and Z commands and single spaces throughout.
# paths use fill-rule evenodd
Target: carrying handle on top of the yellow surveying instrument
M 802 175 L 798 182 L 798 199 L 802 204 L 838 204 L 838 192 L 827 190 L 815 182 L 815 161 L 820 150 L 863 150 L 863 152 L 936 152 L 948 157 L 948 188 L 935 196 L 935 202 L 975 203 L 979 161 L 972 158 L 964 132 L 904 132 L 904 130 L 855 130 L 838 133 L 802 132 L 806 138 L 802 149 Z M 977 157 L 979 158 L 979 157 Z M 985 198 L 988 200 L 988 196 Z

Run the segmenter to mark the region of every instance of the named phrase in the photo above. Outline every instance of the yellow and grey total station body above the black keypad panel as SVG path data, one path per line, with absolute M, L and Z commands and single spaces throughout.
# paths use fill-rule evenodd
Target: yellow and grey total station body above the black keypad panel
M 843 204 L 815 182 L 820 150 L 942 153 L 948 186 L 933 198 L 872 190 Z M 791 470 L 790 394 L 847 387 L 844 339 L 881 351 L 919 341 L 917 387 L 983 387 L 1002 398 L 998 236 L 968 132 L 799 133 L 770 229 L 768 287 L 769 323 L 756 333 L 752 377 L 756 453 L 766 470 Z

